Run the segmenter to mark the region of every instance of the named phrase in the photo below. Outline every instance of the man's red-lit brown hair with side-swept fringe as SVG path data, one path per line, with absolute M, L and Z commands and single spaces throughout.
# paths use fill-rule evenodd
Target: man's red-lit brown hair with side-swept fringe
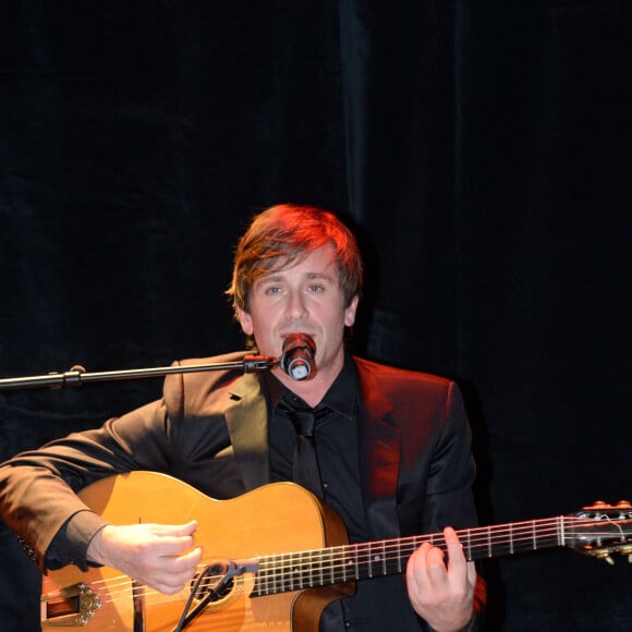
M 250 312 L 254 282 L 264 275 L 299 263 L 326 244 L 335 248 L 340 287 L 349 306 L 362 292 L 362 257 L 353 233 L 332 212 L 314 206 L 279 204 L 255 216 L 239 241 L 227 294 L 233 308 Z

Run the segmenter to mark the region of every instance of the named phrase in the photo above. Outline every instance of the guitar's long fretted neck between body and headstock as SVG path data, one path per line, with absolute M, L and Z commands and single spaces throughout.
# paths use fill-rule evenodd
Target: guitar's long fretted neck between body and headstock
M 530 520 L 458 531 L 470 561 L 555 548 L 566 544 L 568 516 Z M 573 530 L 576 523 L 573 523 Z M 258 558 L 253 595 L 368 580 L 405 571 L 408 559 L 423 544 L 446 549 L 440 533 L 352 544 Z

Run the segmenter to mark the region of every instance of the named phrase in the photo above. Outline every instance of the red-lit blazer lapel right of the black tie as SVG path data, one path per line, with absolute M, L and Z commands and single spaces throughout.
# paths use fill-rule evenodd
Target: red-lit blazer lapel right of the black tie
M 361 403 L 358 410 L 360 467 L 364 505 L 374 537 L 400 535 L 397 486 L 400 436 L 391 420 L 392 402 L 374 373 L 356 362 Z

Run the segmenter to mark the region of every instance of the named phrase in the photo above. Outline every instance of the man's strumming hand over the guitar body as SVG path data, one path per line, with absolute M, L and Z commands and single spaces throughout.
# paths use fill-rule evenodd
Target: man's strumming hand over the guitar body
M 197 522 L 186 524 L 107 525 L 88 546 L 88 559 L 172 595 L 193 578 L 202 549 L 193 547 Z

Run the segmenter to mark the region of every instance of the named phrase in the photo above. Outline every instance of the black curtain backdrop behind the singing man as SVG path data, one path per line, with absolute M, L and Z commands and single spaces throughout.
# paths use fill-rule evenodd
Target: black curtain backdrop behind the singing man
M 242 347 L 255 210 L 356 229 L 356 351 L 459 380 L 482 522 L 632 496 L 628 2 L 11 0 L 0 29 L 0 375 Z M 0 392 L 0 459 L 160 380 Z M 39 578 L 0 531 L 2 630 Z M 630 630 L 632 568 L 486 564 L 489 630 Z

